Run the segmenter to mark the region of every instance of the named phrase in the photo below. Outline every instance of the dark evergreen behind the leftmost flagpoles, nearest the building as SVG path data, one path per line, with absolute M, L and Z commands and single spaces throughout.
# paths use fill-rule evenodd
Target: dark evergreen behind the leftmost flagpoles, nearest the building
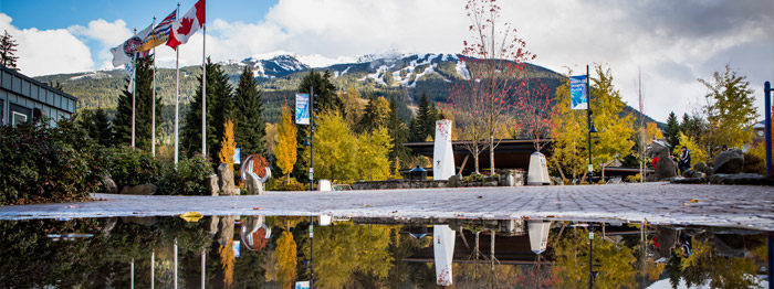
M 135 147 L 150 151 L 151 133 L 151 104 L 153 104 L 153 56 L 139 58 L 135 67 Z M 132 146 L 132 93 L 128 90 L 129 79 L 126 81 L 124 93 L 118 98 L 116 118 L 113 121 L 115 128 L 115 141 L 124 146 Z M 156 141 L 160 132 L 161 97 L 156 97 Z

